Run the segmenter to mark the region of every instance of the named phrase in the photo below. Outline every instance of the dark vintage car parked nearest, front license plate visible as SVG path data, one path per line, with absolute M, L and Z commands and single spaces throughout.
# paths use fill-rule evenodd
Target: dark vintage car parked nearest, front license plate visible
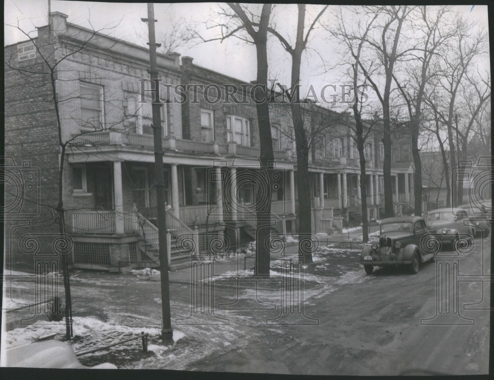
M 415 274 L 421 263 L 433 261 L 440 245 L 420 216 L 397 216 L 381 220 L 379 243 L 365 247 L 360 256 L 367 274 L 375 266 L 407 265 Z

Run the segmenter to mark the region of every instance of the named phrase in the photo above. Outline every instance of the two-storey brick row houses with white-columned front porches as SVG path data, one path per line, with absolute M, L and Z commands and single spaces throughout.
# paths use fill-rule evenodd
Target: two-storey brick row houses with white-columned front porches
M 67 143 L 62 198 L 67 231 L 74 241 L 72 265 L 107 270 L 138 261 L 157 265 L 151 104 L 156 99 L 148 80 L 149 51 L 69 23 L 67 17 L 54 12 L 51 26 L 38 28 L 34 41 L 5 47 L 6 156 L 13 167 L 22 163 L 23 168 L 39 170 L 36 196 L 41 207 L 38 212 L 23 211 L 30 215 L 29 231 L 40 236 L 58 231 L 50 208 L 56 206 L 61 158 L 51 101 L 53 79 L 60 137 Z M 157 63 L 169 261 L 180 265 L 188 262 L 191 250 L 208 252 L 216 244 L 217 250 L 226 252 L 255 239 L 253 209 L 263 202 L 263 194 L 271 197 L 267 212 L 273 231 L 295 232 L 296 159 L 287 107 L 270 105 L 275 161 L 263 171 L 271 177 L 265 184 L 259 172 L 251 84 L 197 66 L 190 57 L 180 62 L 177 53 L 158 54 Z M 229 90 L 221 91 L 232 86 L 245 91 L 237 93 L 241 101 L 232 102 Z M 337 130 L 338 138 L 324 137 L 323 146 L 313 149 L 311 157 L 314 232 L 341 229 L 360 202 L 356 149 L 340 119 L 331 113 L 324 121 L 334 125 L 326 129 Z M 366 180 L 370 204 L 378 207 L 382 156 L 376 154 L 376 141 L 366 147 L 370 158 Z M 409 176 L 413 168 L 406 158 L 404 152 L 393 168 L 397 204 L 409 201 L 413 193 Z M 271 191 L 266 186 L 272 186 Z M 29 261 L 15 255 L 24 231 L 18 227 L 23 212 L 8 215 L 13 223 L 7 234 L 13 261 L 18 257 Z

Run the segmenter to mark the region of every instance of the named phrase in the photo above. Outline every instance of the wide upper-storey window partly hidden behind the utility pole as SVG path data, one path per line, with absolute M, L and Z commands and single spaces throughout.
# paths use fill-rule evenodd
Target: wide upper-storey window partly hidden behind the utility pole
M 153 103 L 150 96 L 146 96 L 145 103 L 139 103 L 139 95 L 127 95 L 127 130 L 137 134 L 153 134 Z M 161 103 L 162 136 L 168 134 L 166 103 Z

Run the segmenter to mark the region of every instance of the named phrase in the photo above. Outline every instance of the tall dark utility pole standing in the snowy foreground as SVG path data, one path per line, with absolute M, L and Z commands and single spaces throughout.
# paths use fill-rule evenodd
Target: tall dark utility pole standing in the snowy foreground
M 168 253 L 166 245 L 166 209 L 165 209 L 165 173 L 163 170 L 163 143 L 161 127 L 161 102 L 160 102 L 160 81 L 158 79 L 158 65 L 156 63 L 156 47 L 161 46 L 156 43 L 155 39 L 155 20 L 154 5 L 148 2 L 148 18 L 141 18 L 148 23 L 149 30 L 149 61 L 151 83 L 154 84 L 153 99 L 153 136 L 155 150 L 155 171 L 156 171 L 156 203 L 158 209 L 158 245 L 160 253 L 160 271 L 161 271 L 161 304 L 163 311 L 163 326 L 161 329 L 161 338 L 163 344 L 173 344 L 173 330 L 171 330 L 170 321 L 170 287 L 168 282 Z M 142 99 L 144 100 L 144 99 Z

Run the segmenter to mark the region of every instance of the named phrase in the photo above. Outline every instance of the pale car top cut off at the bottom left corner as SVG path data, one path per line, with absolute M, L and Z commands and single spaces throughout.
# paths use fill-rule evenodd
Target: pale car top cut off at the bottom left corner
M 117 369 L 111 363 L 83 366 L 72 348 L 60 340 L 45 340 L 8 348 L 3 363 L 6 367 Z

